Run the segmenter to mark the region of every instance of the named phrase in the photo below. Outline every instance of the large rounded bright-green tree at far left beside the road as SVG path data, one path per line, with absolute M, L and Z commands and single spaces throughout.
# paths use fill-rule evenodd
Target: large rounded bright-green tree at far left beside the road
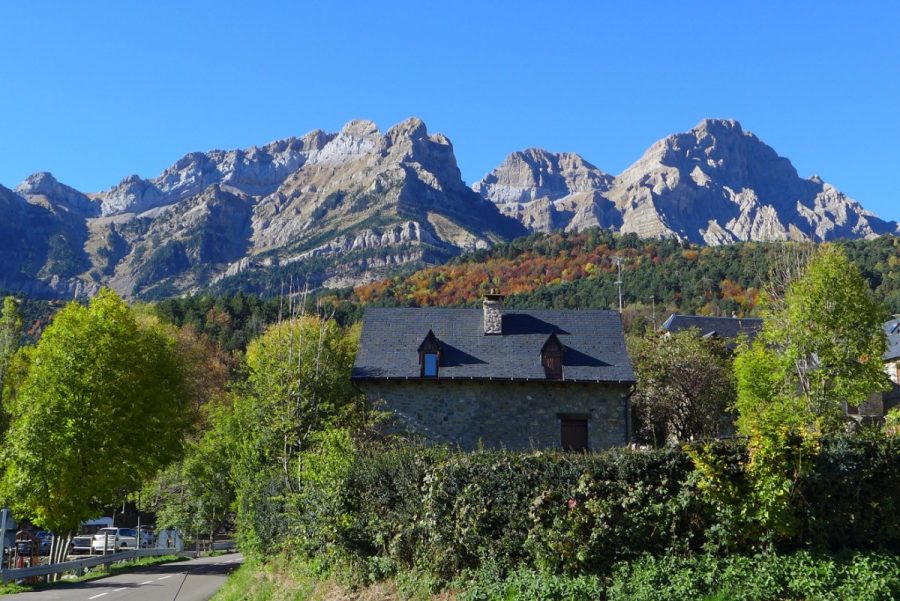
M 190 412 L 175 343 L 114 292 L 67 305 L 26 358 L 0 479 L 16 515 L 70 534 L 180 456 Z

